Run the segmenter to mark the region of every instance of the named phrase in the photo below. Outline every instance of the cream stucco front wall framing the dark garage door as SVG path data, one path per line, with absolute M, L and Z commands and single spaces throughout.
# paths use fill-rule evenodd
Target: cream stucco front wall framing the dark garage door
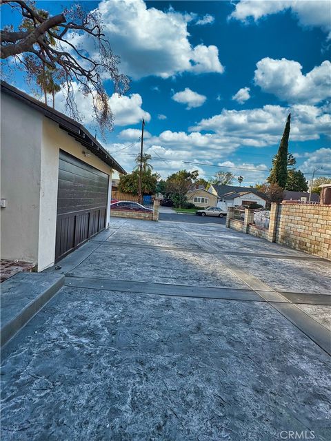
M 61 130 L 57 123 L 46 117 L 43 119 L 42 134 L 40 207 L 43 215 L 39 222 L 39 271 L 54 264 L 60 149 L 108 174 L 110 185 L 112 177 L 111 167 Z M 90 156 L 83 156 L 82 152 L 88 152 Z M 107 226 L 110 216 L 110 195 L 111 192 L 108 192 Z

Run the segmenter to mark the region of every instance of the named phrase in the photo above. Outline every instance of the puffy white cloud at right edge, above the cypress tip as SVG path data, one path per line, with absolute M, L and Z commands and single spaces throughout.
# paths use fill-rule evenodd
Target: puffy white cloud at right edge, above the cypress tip
M 331 96 L 330 61 L 323 61 L 305 75 L 301 70 L 297 61 L 265 57 L 257 63 L 254 81 L 264 92 L 290 103 L 314 104 Z

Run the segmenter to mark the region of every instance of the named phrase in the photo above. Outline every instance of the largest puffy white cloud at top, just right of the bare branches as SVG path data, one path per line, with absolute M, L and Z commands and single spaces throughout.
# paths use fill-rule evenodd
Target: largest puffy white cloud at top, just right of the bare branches
M 224 70 L 217 46 L 191 45 L 188 23 L 195 14 L 147 8 L 143 0 L 103 0 L 99 11 L 106 39 L 121 58 L 121 72 L 133 79 Z M 76 45 L 94 51 L 92 39 L 75 38 Z

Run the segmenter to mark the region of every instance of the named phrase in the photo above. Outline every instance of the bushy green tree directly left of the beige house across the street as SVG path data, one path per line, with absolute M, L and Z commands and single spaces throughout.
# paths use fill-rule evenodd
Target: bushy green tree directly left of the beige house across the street
M 174 203 L 175 207 L 183 207 L 187 202 L 186 194 L 192 187 L 193 183 L 197 181 L 199 172 L 194 170 L 188 172 L 187 170 L 179 170 L 179 172 L 170 174 L 165 181 L 165 191 Z

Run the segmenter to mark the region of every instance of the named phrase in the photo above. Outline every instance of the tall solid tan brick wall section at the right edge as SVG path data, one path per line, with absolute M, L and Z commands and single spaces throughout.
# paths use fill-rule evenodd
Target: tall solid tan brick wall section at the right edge
M 275 241 L 331 259 L 331 205 L 279 204 Z

